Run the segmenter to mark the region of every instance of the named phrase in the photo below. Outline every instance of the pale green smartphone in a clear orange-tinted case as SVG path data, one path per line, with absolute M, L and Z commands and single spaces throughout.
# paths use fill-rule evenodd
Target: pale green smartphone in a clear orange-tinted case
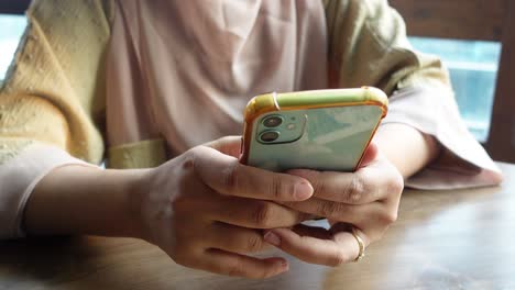
M 256 96 L 244 111 L 240 160 L 272 171 L 354 171 L 387 103 L 372 87 Z

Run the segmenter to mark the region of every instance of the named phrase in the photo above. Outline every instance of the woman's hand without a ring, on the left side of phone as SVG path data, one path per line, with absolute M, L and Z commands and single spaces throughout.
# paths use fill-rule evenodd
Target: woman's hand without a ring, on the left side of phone
M 300 177 L 239 163 L 240 137 L 197 146 L 149 170 L 134 200 L 143 237 L 177 264 L 211 272 L 266 278 L 288 269 L 284 258 L 255 258 L 266 243 L 256 228 L 288 227 L 306 216 L 273 201 L 313 194 Z

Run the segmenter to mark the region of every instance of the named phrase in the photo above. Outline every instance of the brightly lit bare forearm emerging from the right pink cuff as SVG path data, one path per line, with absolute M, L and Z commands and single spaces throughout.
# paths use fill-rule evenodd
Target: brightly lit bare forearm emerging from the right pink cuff
M 440 152 L 440 145 L 432 136 L 401 123 L 380 126 L 375 142 L 404 178 L 427 166 Z

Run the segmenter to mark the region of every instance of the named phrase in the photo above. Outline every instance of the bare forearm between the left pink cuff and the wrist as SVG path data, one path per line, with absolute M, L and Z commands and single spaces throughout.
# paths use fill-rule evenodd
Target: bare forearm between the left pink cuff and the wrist
M 143 170 L 69 165 L 46 175 L 28 201 L 29 235 L 92 234 L 142 237 L 136 201 Z

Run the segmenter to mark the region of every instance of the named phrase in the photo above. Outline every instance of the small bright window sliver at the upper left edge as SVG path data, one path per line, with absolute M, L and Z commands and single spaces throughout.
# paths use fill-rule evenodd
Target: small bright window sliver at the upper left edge
M 6 77 L 25 25 L 23 15 L 0 14 L 0 82 Z

